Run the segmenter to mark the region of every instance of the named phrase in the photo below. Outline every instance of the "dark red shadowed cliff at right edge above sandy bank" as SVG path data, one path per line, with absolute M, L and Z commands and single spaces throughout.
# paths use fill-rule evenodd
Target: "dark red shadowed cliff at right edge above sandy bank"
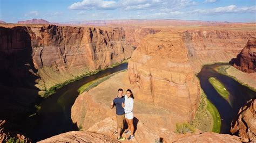
M 233 60 L 235 68 L 245 73 L 254 73 L 256 71 L 256 38 L 248 40 L 245 48 Z

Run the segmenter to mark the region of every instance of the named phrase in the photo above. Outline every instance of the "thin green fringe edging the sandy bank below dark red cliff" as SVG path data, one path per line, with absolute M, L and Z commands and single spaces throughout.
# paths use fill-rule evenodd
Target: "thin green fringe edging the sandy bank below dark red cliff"
M 228 77 L 231 77 L 233 78 L 235 81 L 237 81 L 238 83 L 240 83 L 241 85 L 244 85 L 245 87 L 251 89 L 252 91 L 256 92 L 256 89 L 254 89 L 253 87 L 251 87 L 250 85 L 238 80 L 236 77 L 232 76 L 232 75 L 229 75 L 227 74 L 227 69 L 230 68 L 231 66 L 230 65 L 227 65 L 227 66 L 219 66 L 217 68 L 215 68 L 215 70 L 220 73 L 220 74 L 223 74 L 223 75 L 226 75 Z

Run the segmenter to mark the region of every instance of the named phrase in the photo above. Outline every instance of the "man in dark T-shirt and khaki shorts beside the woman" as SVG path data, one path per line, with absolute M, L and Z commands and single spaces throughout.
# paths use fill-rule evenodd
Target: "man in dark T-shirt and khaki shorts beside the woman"
M 124 108 L 122 106 L 122 103 L 124 103 L 123 93 L 124 91 L 122 88 L 118 89 L 118 95 L 113 99 L 113 102 L 110 105 L 110 109 L 113 109 L 114 105 L 116 105 L 117 140 L 119 141 L 125 140 L 125 138 L 120 135 L 121 130 L 124 127 Z

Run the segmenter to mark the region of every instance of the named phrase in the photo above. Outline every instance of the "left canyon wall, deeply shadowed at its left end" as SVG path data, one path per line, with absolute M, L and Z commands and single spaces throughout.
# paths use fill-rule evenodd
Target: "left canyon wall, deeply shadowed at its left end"
M 117 65 L 133 50 L 122 28 L 1 25 L 1 120 L 18 127 L 51 87 Z

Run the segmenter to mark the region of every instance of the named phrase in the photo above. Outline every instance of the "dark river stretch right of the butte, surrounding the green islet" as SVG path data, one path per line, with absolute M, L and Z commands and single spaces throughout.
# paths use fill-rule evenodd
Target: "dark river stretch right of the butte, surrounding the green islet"
M 233 78 L 223 74 L 219 74 L 214 68 L 227 65 L 225 63 L 215 63 L 213 65 L 204 66 L 197 77 L 200 80 L 201 88 L 204 90 L 207 98 L 218 109 L 221 117 L 220 133 L 230 134 L 230 127 L 232 119 L 237 115 L 241 106 L 244 106 L 248 100 L 256 97 L 256 92 L 250 88 L 241 85 Z M 226 101 L 218 92 L 213 88 L 212 84 L 208 81 L 208 78 L 216 77 L 230 92 L 228 96 L 230 103 Z

